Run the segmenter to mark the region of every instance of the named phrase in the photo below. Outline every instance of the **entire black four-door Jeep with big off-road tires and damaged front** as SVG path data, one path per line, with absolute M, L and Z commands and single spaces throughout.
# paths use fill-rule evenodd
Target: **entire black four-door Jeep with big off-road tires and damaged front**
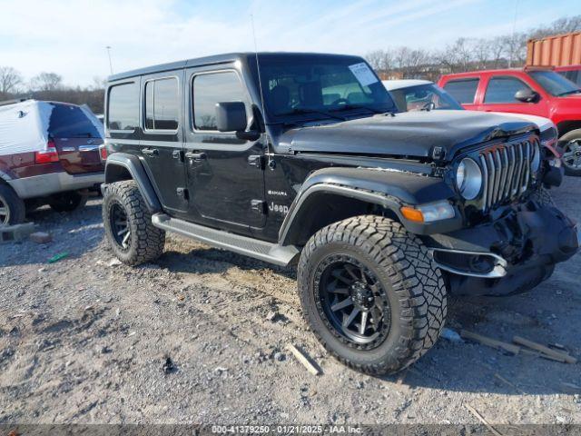
M 397 113 L 363 59 L 223 54 L 110 77 L 103 222 L 129 265 L 165 231 L 298 262 L 300 302 L 341 362 L 397 372 L 452 294 L 524 292 L 578 248 L 537 126 Z

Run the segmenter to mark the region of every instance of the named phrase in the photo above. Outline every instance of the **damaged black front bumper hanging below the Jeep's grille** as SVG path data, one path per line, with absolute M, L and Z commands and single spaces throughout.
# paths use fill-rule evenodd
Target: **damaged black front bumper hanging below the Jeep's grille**
M 579 248 L 576 223 L 549 205 L 519 204 L 492 223 L 425 237 L 450 292 L 507 295 L 546 280 Z

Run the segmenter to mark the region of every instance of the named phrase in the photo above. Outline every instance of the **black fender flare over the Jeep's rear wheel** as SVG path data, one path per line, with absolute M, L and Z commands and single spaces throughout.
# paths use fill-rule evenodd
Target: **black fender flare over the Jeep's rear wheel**
M 162 203 L 160 203 L 157 193 L 153 189 L 153 184 L 149 180 L 143 163 L 139 157 L 127 153 L 113 153 L 107 157 L 105 163 L 105 183 L 104 190 L 108 183 L 119 182 L 126 180 L 127 177 L 119 175 L 119 167 L 124 168 L 131 175 L 131 178 L 137 183 L 140 193 L 143 196 L 143 201 L 147 205 L 147 209 L 151 213 L 162 212 Z

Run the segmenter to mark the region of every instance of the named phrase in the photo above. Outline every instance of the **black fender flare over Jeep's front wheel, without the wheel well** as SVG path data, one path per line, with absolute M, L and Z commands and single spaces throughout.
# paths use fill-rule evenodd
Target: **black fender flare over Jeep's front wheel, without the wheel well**
M 435 223 L 415 223 L 400 212 L 401 206 L 416 206 L 453 199 L 456 193 L 441 178 L 416 173 L 376 170 L 369 168 L 324 168 L 301 185 L 279 232 L 279 243 L 291 243 L 294 226 L 300 226 L 301 213 L 306 213 L 310 201 L 319 193 L 333 193 L 378 204 L 398 216 L 410 233 L 448 233 L 462 227 L 462 216 Z

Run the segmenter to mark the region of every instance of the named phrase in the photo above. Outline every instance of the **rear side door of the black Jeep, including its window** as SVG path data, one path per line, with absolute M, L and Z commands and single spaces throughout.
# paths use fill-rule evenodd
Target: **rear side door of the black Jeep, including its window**
M 166 212 L 187 212 L 183 168 L 183 70 L 143 76 L 140 158 Z

